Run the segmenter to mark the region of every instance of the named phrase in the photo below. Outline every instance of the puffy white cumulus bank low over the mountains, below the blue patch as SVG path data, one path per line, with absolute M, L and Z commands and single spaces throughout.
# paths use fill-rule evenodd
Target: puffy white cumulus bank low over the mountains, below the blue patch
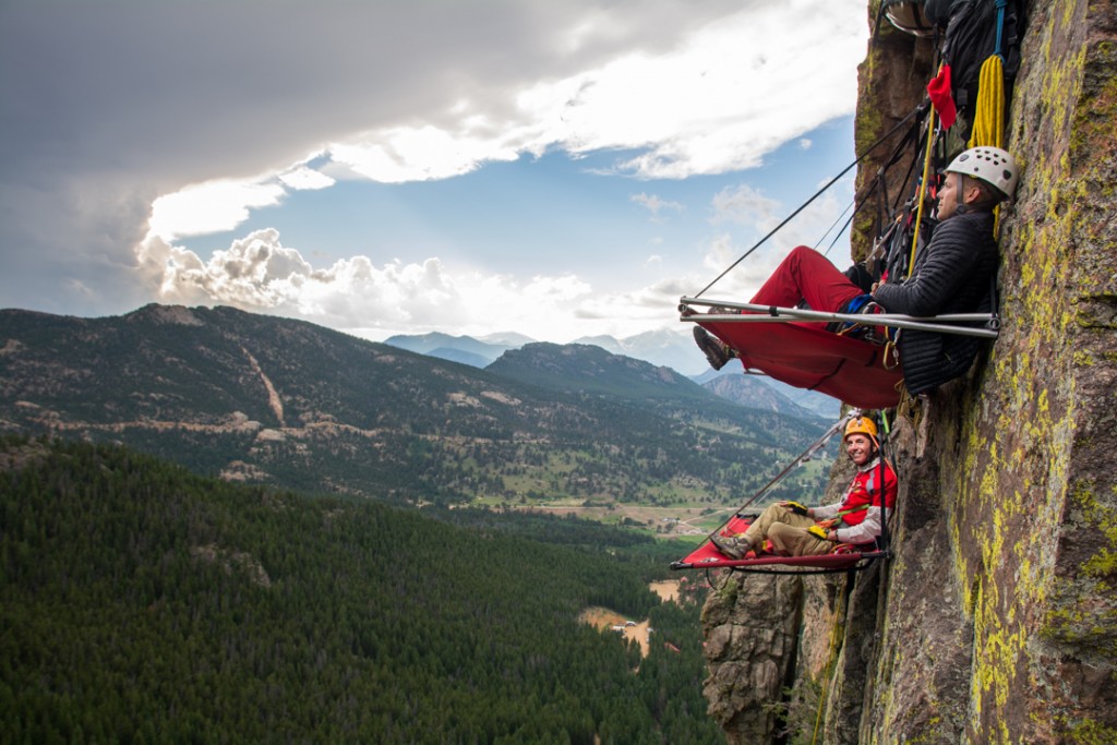
M 142 246 L 141 262 L 163 303 L 232 305 L 380 338 L 448 325 L 480 334 L 499 321 L 500 328 L 536 338 L 570 340 L 585 333 L 572 319 L 593 295 L 592 286 L 573 274 L 525 280 L 451 270 L 438 258 L 376 266 L 356 256 L 314 267 L 284 246 L 274 229 L 236 240 L 208 260 L 152 236 Z M 618 315 L 627 317 L 623 311 L 611 317 Z M 611 323 L 601 327 L 620 329 Z

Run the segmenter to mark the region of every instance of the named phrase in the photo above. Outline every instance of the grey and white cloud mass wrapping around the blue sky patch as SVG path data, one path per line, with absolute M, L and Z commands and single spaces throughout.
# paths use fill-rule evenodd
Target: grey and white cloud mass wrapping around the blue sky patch
M 435 259 L 309 268 L 262 233 L 209 258 L 174 240 L 292 190 L 446 179 L 523 153 L 617 151 L 612 172 L 638 179 L 753 168 L 851 112 L 865 37 L 863 0 L 11 0 L 0 295 L 83 314 L 159 293 L 418 323 L 476 299 L 476 280 L 509 313 L 513 290 L 521 311 L 528 292 L 553 311 L 575 279 L 470 278 Z

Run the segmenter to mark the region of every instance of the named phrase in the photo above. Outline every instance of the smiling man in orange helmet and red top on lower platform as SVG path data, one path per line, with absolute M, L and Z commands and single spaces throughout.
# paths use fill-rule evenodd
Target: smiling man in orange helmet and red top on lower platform
M 880 480 L 884 470 L 884 504 L 888 512 L 896 506 L 896 474 L 886 462 L 881 469 L 877 426 L 871 419 L 856 417 L 846 424 L 846 455 L 857 466 L 857 475 L 838 504 L 803 507 L 794 502 L 777 502 L 753 520 L 743 534 L 715 535 L 710 541 L 731 558 L 760 555 L 770 548 L 783 556 L 829 554 L 840 543 L 870 544 L 880 535 Z M 765 541 L 768 544 L 765 544 Z

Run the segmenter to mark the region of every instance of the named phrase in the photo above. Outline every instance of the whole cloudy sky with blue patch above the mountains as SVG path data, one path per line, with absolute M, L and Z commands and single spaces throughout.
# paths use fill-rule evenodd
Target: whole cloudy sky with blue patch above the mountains
M 853 160 L 868 30 L 865 0 L 0 0 L 0 307 L 689 332 L 679 297 Z M 706 296 L 827 250 L 851 179 Z

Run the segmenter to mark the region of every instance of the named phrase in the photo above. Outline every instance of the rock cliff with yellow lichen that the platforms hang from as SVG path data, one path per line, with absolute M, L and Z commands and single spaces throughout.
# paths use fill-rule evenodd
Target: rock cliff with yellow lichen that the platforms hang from
M 840 576 L 780 581 L 782 618 L 803 619 L 793 655 L 786 628 L 770 634 L 771 660 L 787 667 L 765 679 L 795 681 L 784 742 L 811 742 L 820 693 L 820 743 L 1117 742 L 1117 3 L 1024 4 L 1001 336 L 966 378 L 897 418 L 885 571 L 859 574 L 848 600 Z M 859 126 L 876 126 L 866 108 L 881 66 L 862 69 Z M 771 581 L 739 584 L 710 596 L 706 619 L 719 623 L 707 632 L 762 658 L 744 621 L 725 627 L 756 618 Z M 732 642 L 707 650 L 729 742 L 779 742 L 774 719 L 734 711 L 755 671 L 731 680 Z M 756 691 L 747 706 L 780 703 Z

